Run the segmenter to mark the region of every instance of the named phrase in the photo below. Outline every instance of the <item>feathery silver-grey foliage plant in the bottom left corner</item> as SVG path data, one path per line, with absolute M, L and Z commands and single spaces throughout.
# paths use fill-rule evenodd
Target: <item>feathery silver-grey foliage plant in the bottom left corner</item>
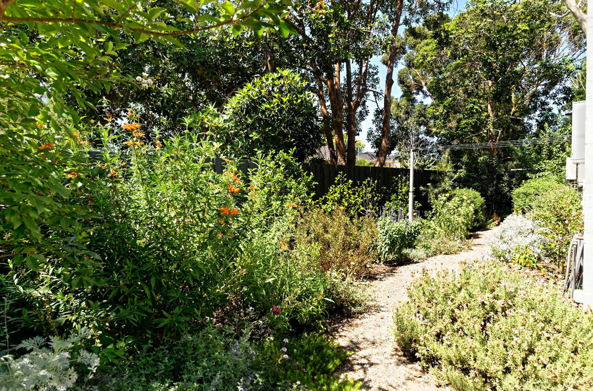
M 20 357 L 0 358 L 0 391 L 64 391 L 72 388 L 78 371 L 85 368 L 93 374 L 99 357 L 79 348 L 79 342 L 90 337 L 88 329 L 72 332 L 69 338 L 33 337 L 15 349 L 28 353 Z

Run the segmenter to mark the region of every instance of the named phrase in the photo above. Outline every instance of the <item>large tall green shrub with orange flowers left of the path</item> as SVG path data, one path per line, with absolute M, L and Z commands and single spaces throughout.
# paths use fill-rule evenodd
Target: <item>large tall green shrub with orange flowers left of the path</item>
M 23 333 L 60 334 L 84 325 L 121 354 L 146 339 L 199 330 L 228 305 L 229 280 L 254 278 L 235 262 L 244 248 L 259 240 L 277 260 L 280 238 L 293 229 L 299 206 L 310 202 L 310 176 L 285 153 L 260 156 L 247 173 L 228 161 L 219 174 L 208 162 L 216 144 L 192 134 L 141 144 L 142 133 L 133 133 L 123 139 L 122 153 L 106 149 L 88 171 L 66 179 L 75 201 L 100 216 L 81 221 L 79 237 L 62 238 L 81 260 L 74 272 L 63 269 L 69 260 L 63 251 L 34 269 L 2 259 L 7 280 L 17 282 L 11 300 L 27 314 L 12 319 Z M 121 141 L 104 134 L 106 146 Z M 264 235 L 270 231 L 276 234 Z M 267 267 L 274 277 L 278 265 Z

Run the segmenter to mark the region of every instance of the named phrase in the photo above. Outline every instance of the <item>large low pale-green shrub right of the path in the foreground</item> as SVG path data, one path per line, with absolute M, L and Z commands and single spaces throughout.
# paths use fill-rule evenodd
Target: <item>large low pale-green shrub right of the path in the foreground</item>
M 463 391 L 593 387 L 593 321 L 524 274 L 493 264 L 423 272 L 394 334 L 440 382 Z

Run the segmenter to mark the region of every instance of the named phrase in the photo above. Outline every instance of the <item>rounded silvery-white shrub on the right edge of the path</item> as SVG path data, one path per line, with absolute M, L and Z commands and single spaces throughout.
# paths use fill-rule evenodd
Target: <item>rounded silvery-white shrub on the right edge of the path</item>
M 498 260 L 537 267 L 546 260 L 549 239 L 545 232 L 538 222 L 524 215 L 509 215 L 490 241 L 490 251 Z

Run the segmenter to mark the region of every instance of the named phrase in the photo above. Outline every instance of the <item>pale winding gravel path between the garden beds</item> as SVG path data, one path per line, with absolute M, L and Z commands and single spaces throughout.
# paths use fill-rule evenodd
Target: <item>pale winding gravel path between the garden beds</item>
M 391 334 L 393 308 L 406 300 L 413 274 L 429 270 L 457 269 L 460 261 L 480 259 L 488 253 L 488 241 L 497 228 L 476 232 L 469 249 L 458 254 L 439 255 L 428 260 L 387 267 L 371 282 L 376 298 L 370 311 L 348 319 L 336 329 L 336 342 L 353 355 L 337 370 L 341 377 L 362 382 L 362 390 L 432 391 L 447 390 L 418 364 L 410 363 L 394 344 Z

